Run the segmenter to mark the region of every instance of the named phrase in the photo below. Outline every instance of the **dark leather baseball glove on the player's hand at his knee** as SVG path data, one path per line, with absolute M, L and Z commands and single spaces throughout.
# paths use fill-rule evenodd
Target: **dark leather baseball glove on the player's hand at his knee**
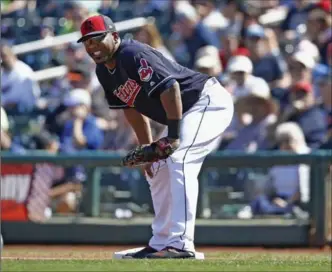
M 130 151 L 123 159 L 123 166 L 139 166 L 167 159 L 175 148 L 172 147 L 167 137 L 153 142 L 150 145 L 139 145 Z

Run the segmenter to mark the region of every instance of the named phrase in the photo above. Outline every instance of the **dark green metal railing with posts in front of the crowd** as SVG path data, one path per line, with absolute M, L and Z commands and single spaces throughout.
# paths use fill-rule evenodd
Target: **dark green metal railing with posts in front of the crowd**
M 23 164 L 48 162 L 62 166 L 84 165 L 88 169 L 87 203 L 88 216 L 99 216 L 100 212 L 100 171 L 98 167 L 120 166 L 123 153 L 115 152 L 78 152 L 75 154 L 52 155 L 44 152 L 31 152 L 28 154 L 13 154 L 3 152 L 2 164 Z M 326 185 L 324 179 L 327 175 L 328 166 L 332 164 L 330 151 L 315 151 L 310 154 L 290 154 L 285 152 L 260 152 L 255 154 L 239 152 L 218 152 L 208 156 L 203 164 L 206 168 L 267 168 L 275 165 L 307 164 L 311 168 L 310 182 L 310 212 L 311 212 L 311 236 L 317 244 L 325 241 L 325 194 Z M 5 167 L 5 166 L 3 166 Z M 200 177 L 202 179 L 204 177 Z M 205 182 L 200 182 L 203 186 Z M 202 189 L 202 188 L 201 188 Z M 200 196 L 201 197 L 201 196 Z M 201 200 L 199 200 L 201 201 Z

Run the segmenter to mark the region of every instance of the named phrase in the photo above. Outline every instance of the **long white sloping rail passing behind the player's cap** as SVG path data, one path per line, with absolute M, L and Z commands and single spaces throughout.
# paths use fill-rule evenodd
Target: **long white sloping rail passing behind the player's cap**
M 140 28 L 152 22 L 153 20 L 154 19 L 150 17 L 149 18 L 140 17 L 115 23 L 115 26 L 117 28 L 117 31 L 122 32 L 122 31 L 132 30 L 135 28 Z M 18 44 L 13 47 L 13 51 L 16 55 L 25 54 L 46 48 L 60 46 L 66 43 L 76 42 L 79 39 L 79 37 L 80 33 L 79 31 L 77 31 L 69 34 L 49 37 L 34 42 Z

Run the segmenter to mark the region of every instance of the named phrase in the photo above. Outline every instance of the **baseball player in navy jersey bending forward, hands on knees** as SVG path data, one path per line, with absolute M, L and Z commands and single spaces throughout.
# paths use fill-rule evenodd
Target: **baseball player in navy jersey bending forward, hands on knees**
M 135 40 L 121 40 L 103 15 L 81 25 L 87 53 L 112 109 L 122 109 L 139 146 L 123 159 L 143 167 L 153 201 L 153 236 L 128 258 L 195 258 L 198 174 L 233 116 L 217 79 L 189 70 Z M 153 141 L 149 119 L 167 126 Z

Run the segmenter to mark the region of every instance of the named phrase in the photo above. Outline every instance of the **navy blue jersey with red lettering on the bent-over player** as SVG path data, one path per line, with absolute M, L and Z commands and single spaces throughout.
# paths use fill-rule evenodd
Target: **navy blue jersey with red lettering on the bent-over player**
M 152 47 L 135 40 L 122 41 L 114 55 L 113 70 L 99 64 L 96 68 L 110 108 L 134 107 L 150 119 L 166 124 L 160 94 L 176 81 L 180 85 L 183 113 L 199 99 L 207 75 L 189 70 L 165 58 Z

